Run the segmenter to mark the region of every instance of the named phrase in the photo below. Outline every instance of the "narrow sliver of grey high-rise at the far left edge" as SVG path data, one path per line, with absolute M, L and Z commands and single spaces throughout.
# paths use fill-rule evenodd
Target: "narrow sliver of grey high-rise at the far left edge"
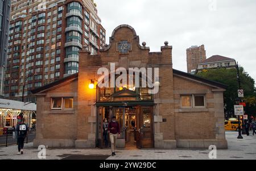
M 3 96 L 5 81 L 10 9 L 10 0 L 0 0 L 0 96 Z

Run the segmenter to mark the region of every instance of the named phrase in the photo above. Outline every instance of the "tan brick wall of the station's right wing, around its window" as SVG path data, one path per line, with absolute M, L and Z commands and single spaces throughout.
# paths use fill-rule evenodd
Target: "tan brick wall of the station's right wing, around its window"
M 176 139 L 215 139 L 216 118 L 214 118 L 214 87 L 189 81 L 186 78 L 174 76 L 175 91 L 175 138 Z M 181 94 L 205 94 L 206 107 L 188 112 L 181 112 Z M 196 109 L 195 109 L 196 110 Z M 223 113 L 224 118 L 224 113 Z

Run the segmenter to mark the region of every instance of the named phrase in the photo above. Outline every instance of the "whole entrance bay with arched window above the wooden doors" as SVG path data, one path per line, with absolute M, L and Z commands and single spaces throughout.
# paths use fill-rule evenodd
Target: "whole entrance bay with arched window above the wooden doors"
M 141 80 L 140 77 L 140 82 Z M 137 88 L 135 85 L 98 87 L 96 105 L 97 147 L 105 147 L 103 122 L 105 118 L 110 122 L 112 116 L 116 116 L 121 132 L 121 136 L 117 139 L 117 147 L 154 147 L 154 101 L 153 95 L 148 94 L 148 87 Z

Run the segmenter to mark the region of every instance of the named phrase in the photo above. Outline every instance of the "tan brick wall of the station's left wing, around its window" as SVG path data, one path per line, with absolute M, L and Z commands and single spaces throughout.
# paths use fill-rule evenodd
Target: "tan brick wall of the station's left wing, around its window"
M 73 97 L 71 111 L 51 110 L 51 97 Z M 77 80 L 50 90 L 38 97 L 36 136 L 43 139 L 76 139 L 77 132 Z

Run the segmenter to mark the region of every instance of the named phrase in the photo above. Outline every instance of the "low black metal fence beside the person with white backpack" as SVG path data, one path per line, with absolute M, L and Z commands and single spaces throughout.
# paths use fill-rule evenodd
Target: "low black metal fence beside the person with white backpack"
M 35 133 L 34 132 L 30 132 L 27 134 L 26 139 L 24 140 L 24 143 L 28 143 L 31 142 L 35 139 Z M 17 139 L 15 137 L 13 137 L 13 134 L 7 134 L 5 135 L 0 135 L 0 146 L 5 146 L 7 147 L 8 145 L 15 145 L 17 144 Z

